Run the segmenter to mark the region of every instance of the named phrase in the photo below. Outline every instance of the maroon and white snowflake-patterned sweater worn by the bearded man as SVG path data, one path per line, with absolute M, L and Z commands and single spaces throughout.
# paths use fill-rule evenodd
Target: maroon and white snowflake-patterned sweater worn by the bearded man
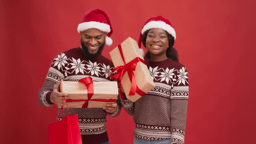
M 80 47 L 62 52 L 52 61 L 42 89 L 38 93 L 38 100 L 43 106 L 52 106 L 50 94 L 54 85 L 61 79 L 78 81 L 90 76 L 94 82 L 110 81 L 109 74 L 112 68 L 113 63 L 104 56 L 90 60 L 85 58 Z M 83 142 L 100 144 L 108 141 L 105 127 L 106 115 L 117 116 L 122 106 L 119 100 L 117 100 L 117 104 L 118 108 L 112 114 L 107 113 L 103 108 L 70 108 L 71 115 L 78 114 Z M 60 108 L 58 108 L 59 111 Z M 66 111 L 65 114 L 67 114 Z M 59 120 L 61 119 L 62 117 L 59 118 Z

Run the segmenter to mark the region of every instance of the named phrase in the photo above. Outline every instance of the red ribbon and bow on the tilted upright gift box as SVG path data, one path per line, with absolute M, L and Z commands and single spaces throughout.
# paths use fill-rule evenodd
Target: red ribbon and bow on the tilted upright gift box
M 140 88 L 138 88 L 133 71 L 136 69 L 136 66 L 137 66 L 138 62 L 142 62 L 143 64 L 146 64 L 146 62 L 144 60 L 142 60 L 141 58 L 136 57 L 136 58 L 134 58 L 133 60 L 131 60 L 130 62 L 128 62 L 126 64 L 126 62 L 124 60 L 124 54 L 122 52 L 121 44 L 118 45 L 118 49 L 119 49 L 119 52 L 121 54 L 122 60 L 124 61 L 124 65 L 123 66 L 117 66 L 116 68 L 114 68 L 112 70 L 112 72 L 115 72 L 117 70 L 117 73 L 114 76 L 111 73 L 109 77 L 120 80 L 119 81 L 119 93 L 120 93 L 121 98 L 124 100 L 124 96 L 123 96 L 120 89 L 121 89 L 122 77 L 124 76 L 126 71 L 127 71 L 128 76 L 129 76 L 129 79 L 131 81 L 131 88 L 130 88 L 129 96 L 134 96 L 135 93 L 139 94 L 140 96 L 145 95 L 146 93 L 143 92 L 142 90 L 140 90 Z

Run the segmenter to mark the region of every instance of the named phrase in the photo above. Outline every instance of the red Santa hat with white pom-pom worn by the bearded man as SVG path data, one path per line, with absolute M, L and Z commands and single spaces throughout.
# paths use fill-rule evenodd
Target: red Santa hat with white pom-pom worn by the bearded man
M 83 32 L 90 28 L 96 28 L 102 32 L 107 32 L 108 35 L 105 40 L 105 44 L 110 46 L 112 44 L 112 39 L 110 38 L 113 33 L 113 29 L 108 18 L 108 15 L 100 9 L 90 10 L 84 14 L 83 20 L 78 24 L 77 31 Z

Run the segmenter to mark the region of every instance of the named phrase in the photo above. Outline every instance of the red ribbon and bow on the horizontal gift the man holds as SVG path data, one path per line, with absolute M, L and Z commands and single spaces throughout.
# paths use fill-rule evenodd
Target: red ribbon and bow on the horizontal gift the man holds
M 115 99 L 108 99 L 108 100 L 103 100 L 103 99 L 92 99 L 92 96 L 94 94 L 94 90 L 93 90 L 93 82 L 92 82 L 92 78 L 90 76 L 82 78 L 79 80 L 79 82 L 84 83 L 84 85 L 87 88 L 87 96 L 88 96 L 88 100 L 72 100 L 72 99 L 68 99 L 66 100 L 66 102 L 84 102 L 84 105 L 82 106 L 82 108 L 87 108 L 88 107 L 88 103 L 89 101 L 96 101 L 96 102 L 115 102 Z

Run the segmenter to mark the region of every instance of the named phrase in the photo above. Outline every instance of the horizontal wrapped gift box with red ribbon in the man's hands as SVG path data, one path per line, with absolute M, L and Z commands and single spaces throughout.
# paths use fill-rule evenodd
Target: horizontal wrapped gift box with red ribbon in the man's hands
M 103 108 L 116 101 L 118 86 L 117 82 L 92 82 L 91 77 L 86 77 L 79 82 L 62 81 L 60 92 L 68 94 L 69 108 Z

